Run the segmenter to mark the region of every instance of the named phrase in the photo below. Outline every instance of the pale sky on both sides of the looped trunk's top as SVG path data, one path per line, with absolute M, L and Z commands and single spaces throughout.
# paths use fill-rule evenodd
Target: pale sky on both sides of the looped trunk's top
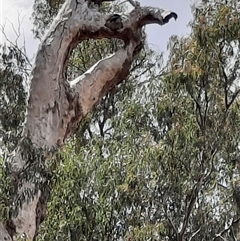
M 192 1 L 194 0 L 139 0 L 141 6 L 169 9 L 178 14 L 177 21 L 172 19 L 164 26 L 156 24 L 147 26 L 148 43 L 151 47 L 166 53 L 167 42 L 172 35 L 184 36 L 190 32 L 187 25 L 192 19 L 190 8 Z M 20 46 L 25 42 L 30 59 L 36 54 L 39 44 L 31 31 L 33 27 L 30 18 L 33 2 L 34 0 L 0 0 L 0 28 L 4 27 L 6 36 L 13 42 L 16 41 L 17 35 L 20 35 L 17 42 Z M 4 41 L 5 37 L 0 32 L 0 43 Z

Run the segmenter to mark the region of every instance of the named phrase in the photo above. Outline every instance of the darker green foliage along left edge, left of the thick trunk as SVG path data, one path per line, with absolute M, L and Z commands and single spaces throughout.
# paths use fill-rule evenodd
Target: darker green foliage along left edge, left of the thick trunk
M 0 143 L 1 155 L 19 144 L 26 108 L 29 62 L 17 46 L 0 46 Z M 0 220 L 8 220 L 14 193 L 14 177 L 0 157 Z

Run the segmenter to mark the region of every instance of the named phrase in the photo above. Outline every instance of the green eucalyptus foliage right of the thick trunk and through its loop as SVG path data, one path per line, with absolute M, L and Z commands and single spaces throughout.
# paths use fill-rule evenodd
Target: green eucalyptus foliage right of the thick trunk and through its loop
M 236 240 L 235 4 L 196 6 L 190 36 L 170 39 L 165 71 L 161 56 L 146 47 L 129 78 L 81 122 L 49 167 L 52 192 L 37 240 Z M 71 57 L 69 79 L 119 44 L 83 42 Z M 3 176 L 2 171 L 1 190 Z M 6 207 L 7 195 L 4 200 L 0 205 Z

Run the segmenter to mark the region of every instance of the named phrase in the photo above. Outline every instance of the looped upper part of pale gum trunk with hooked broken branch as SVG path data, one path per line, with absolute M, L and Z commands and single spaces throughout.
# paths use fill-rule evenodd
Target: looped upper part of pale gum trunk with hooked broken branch
M 30 102 L 33 104 L 28 109 L 31 120 L 36 119 L 35 116 L 42 109 L 47 111 L 43 119 L 52 119 L 55 115 L 52 111 L 56 111 L 58 120 L 53 121 L 55 125 L 49 127 L 49 133 L 56 133 L 56 136 L 46 137 L 43 128 L 38 135 L 34 135 L 36 139 L 33 141 L 41 142 L 42 145 L 62 145 L 74 133 L 83 116 L 113 86 L 127 77 L 133 57 L 143 47 L 142 26 L 151 23 L 163 25 L 171 18 L 177 18 L 177 15 L 151 7 L 138 7 L 124 16 L 109 16 L 99 13 L 95 8 L 89 8 L 85 0 L 66 1 L 36 56 L 30 94 Z M 88 38 L 118 38 L 124 40 L 125 46 L 113 56 L 96 63 L 85 74 L 72 81 L 69 87 L 65 74 L 67 61 L 77 44 Z M 81 83 L 77 84 L 78 81 Z M 55 91 L 50 91 L 53 89 Z M 46 94 L 42 95 L 43 92 Z M 60 96 L 67 96 L 67 101 L 59 101 Z M 37 102 L 34 101 L 36 98 Z M 43 120 L 36 121 L 37 123 L 31 121 L 31 124 L 27 122 L 26 133 L 34 133 L 36 126 L 42 126 Z

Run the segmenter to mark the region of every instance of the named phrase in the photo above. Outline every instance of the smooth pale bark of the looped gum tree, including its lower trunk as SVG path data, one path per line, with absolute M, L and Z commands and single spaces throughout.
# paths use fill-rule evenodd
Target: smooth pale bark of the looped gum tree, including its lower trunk
M 89 7 L 89 0 L 67 0 L 36 55 L 24 136 L 39 148 L 62 146 L 93 106 L 126 79 L 133 57 L 143 47 L 142 26 L 151 23 L 163 25 L 172 17 L 177 16 L 139 5 L 128 15 L 103 15 L 96 5 Z M 69 83 L 65 69 L 68 58 L 78 43 L 89 38 L 119 38 L 124 40 L 125 47 Z M 27 165 L 21 151 L 20 148 L 8 160 L 13 175 Z M 22 182 L 18 185 L 16 197 L 27 188 L 36 188 L 34 183 Z M 40 200 L 41 195 L 39 190 L 31 201 L 23 202 L 18 215 L 8 222 L 11 225 L 5 225 L 8 232 L 3 225 L 0 226 L 0 240 L 9 240 L 8 233 L 13 239 L 17 235 L 34 239 L 46 204 Z M 14 232 L 9 231 L 12 229 Z

